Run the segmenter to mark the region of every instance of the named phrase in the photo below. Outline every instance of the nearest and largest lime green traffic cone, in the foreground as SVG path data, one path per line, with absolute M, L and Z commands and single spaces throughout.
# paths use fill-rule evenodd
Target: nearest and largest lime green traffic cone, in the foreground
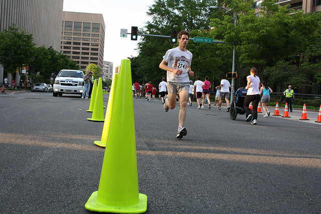
M 98 191 L 85 207 L 91 211 L 142 213 L 147 196 L 138 192 L 138 173 L 130 60 L 122 60 Z

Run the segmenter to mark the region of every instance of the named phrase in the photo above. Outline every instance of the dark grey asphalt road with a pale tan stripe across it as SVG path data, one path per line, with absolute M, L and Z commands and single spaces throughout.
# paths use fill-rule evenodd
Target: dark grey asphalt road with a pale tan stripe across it
M 103 123 L 87 120 L 89 102 L 0 95 L 0 212 L 91 213 L 84 204 L 98 189 L 105 149 L 93 143 Z M 166 113 L 159 100 L 133 103 L 146 213 L 321 212 L 317 114 L 308 112 L 309 122 L 259 114 L 251 125 L 194 104 L 188 134 L 176 139 L 178 106 Z

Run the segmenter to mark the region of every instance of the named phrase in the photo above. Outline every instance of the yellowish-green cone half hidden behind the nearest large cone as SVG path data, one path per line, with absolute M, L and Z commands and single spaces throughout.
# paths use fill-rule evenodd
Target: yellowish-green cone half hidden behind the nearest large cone
M 96 140 L 94 143 L 98 146 L 106 147 L 106 142 L 107 142 L 107 136 L 108 136 L 108 131 L 110 127 L 110 118 L 111 118 L 111 112 L 112 112 L 112 106 L 114 103 L 114 97 L 115 97 L 115 89 L 118 81 L 118 74 L 114 75 L 114 79 L 111 82 L 111 89 L 109 93 L 109 98 L 108 98 L 108 104 L 107 104 L 107 109 L 106 109 L 106 115 L 105 115 L 105 122 L 104 122 L 104 127 L 102 129 L 102 134 L 101 134 L 101 140 Z

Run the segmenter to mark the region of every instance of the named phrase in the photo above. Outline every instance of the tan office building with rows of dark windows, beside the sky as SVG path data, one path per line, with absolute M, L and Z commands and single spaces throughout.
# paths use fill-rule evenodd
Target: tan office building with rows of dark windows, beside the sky
M 102 14 L 63 12 L 61 53 L 85 70 L 93 63 L 103 72 L 105 23 Z

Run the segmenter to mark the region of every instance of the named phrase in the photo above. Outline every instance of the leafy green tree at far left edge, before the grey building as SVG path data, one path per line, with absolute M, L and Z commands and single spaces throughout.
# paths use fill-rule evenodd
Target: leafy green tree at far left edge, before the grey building
M 14 26 L 0 33 L 0 64 L 8 73 L 15 74 L 17 68 L 32 61 L 35 43 L 32 34 Z

